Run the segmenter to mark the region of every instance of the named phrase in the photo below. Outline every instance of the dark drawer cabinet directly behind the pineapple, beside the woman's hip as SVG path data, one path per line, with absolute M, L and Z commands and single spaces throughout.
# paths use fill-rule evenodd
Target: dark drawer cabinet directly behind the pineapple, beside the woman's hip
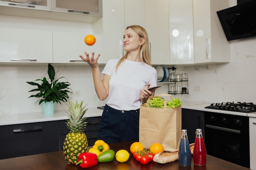
M 88 117 L 85 119 L 87 125 L 84 132 L 88 140 L 88 146 L 93 146 L 95 141 L 97 141 L 100 120 L 101 116 Z M 70 130 L 67 129 L 66 122 L 67 120 L 60 121 L 60 150 L 63 150 L 65 137 L 70 132 Z

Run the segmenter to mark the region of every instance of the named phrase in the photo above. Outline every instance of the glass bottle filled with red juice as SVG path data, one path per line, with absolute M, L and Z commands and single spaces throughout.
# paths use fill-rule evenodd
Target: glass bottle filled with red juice
M 194 164 L 204 166 L 206 164 L 206 149 L 202 135 L 202 129 L 196 129 L 195 146 L 193 150 Z

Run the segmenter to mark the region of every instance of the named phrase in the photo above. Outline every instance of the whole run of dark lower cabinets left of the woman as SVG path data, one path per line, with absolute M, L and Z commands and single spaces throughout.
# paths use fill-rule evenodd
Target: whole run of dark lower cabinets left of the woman
M 89 146 L 97 140 L 100 119 L 88 117 L 85 120 Z M 66 120 L 0 126 L 0 159 L 63 150 L 69 132 Z

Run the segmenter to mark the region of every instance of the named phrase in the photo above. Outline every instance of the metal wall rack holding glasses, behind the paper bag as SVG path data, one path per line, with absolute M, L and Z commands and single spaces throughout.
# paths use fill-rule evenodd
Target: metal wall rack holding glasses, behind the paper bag
M 168 77 L 163 81 L 164 77 L 157 77 L 157 84 L 168 84 L 168 94 L 177 95 L 177 94 L 189 94 L 189 78 L 186 73 L 184 77 L 175 77 L 176 69 L 175 67 L 167 68 Z M 174 71 L 174 72 L 171 72 Z M 180 74 L 180 75 L 182 75 Z M 179 74 L 178 74 L 179 75 Z M 161 81 L 159 81 L 161 80 Z

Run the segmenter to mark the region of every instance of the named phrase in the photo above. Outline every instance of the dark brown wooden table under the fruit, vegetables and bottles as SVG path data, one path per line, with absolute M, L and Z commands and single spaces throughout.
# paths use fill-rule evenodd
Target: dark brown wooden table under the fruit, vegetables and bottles
M 130 145 L 134 141 L 126 141 L 116 144 L 110 144 L 110 148 L 117 150 L 125 149 L 130 152 Z M 0 153 L 1 154 L 1 153 Z M 0 160 L 0 170 L 83 170 L 79 165 L 67 164 L 64 159 L 63 151 L 49 152 L 39 155 L 30 155 L 25 157 L 16 157 Z M 86 170 L 249 170 L 248 168 L 218 159 L 207 155 L 206 166 L 195 166 L 193 157 L 190 167 L 179 166 L 179 161 L 171 163 L 150 162 L 148 165 L 142 165 L 136 161 L 132 155 L 125 163 L 119 163 L 116 160 L 108 163 L 99 163 L 97 166 L 87 168 Z

